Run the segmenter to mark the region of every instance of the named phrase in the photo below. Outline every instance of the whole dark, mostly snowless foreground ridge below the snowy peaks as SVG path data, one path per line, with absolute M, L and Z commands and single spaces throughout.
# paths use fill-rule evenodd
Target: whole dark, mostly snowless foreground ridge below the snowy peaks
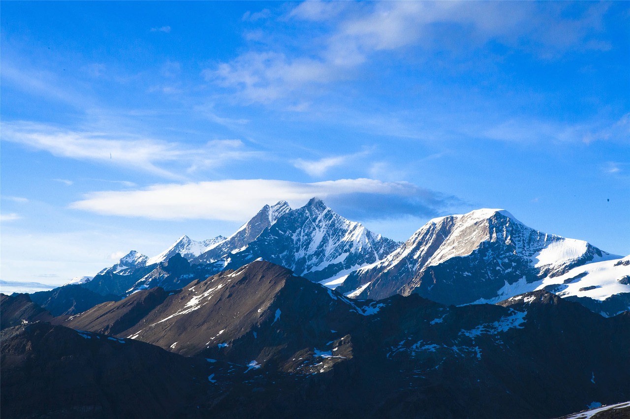
M 630 313 L 547 291 L 461 307 L 357 301 L 256 261 L 54 321 L 112 337 L 5 330 L 3 413 L 30 417 L 31 394 L 51 417 L 552 418 L 630 399 Z M 130 410 L 133 398 L 151 411 Z

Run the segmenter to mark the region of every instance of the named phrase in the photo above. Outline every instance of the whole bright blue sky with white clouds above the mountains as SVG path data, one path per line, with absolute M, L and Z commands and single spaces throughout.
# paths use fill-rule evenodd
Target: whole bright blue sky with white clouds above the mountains
M 405 240 L 505 208 L 630 254 L 630 8 L 3 2 L 1 277 L 62 284 L 318 195 Z

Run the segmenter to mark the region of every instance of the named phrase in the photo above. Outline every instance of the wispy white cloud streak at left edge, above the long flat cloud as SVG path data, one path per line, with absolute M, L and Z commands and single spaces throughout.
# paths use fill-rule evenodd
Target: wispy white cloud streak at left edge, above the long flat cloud
M 201 147 L 189 147 L 176 142 L 122 139 L 96 131 L 61 130 L 27 122 L 3 123 L 2 131 L 3 141 L 44 150 L 56 157 L 122 165 L 168 179 L 185 179 L 181 170 L 164 168 L 168 165 L 184 165 L 185 170 L 192 172 L 261 157 L 261 152 L 248 150 L 241 140 L 211 140 Z

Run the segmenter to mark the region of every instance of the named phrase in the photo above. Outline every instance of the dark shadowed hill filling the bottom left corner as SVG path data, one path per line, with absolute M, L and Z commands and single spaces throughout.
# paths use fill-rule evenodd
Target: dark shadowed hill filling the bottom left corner
M 8 418 L 188 416 L 209 385 L 205 360 L 49 323 L 3 330 L 1 350 Z

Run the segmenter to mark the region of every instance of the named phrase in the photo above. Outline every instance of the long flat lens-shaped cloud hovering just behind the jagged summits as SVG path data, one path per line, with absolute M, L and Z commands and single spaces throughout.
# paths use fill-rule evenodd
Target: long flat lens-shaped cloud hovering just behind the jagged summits
M 452 196 L 408 182 L 374 179 L 339 179 L 314 183 L 242 179 L 187 184 L 157 184 L 136 191 L 100 191 L 70 205 L 75 210 L 100 215 L 152 220 L 243 221 L 265 204 L 286 200 L 301 206 L 312 197 L 324 199 L 343 215 L 364 219 L 401 215 L 436 215 Z

